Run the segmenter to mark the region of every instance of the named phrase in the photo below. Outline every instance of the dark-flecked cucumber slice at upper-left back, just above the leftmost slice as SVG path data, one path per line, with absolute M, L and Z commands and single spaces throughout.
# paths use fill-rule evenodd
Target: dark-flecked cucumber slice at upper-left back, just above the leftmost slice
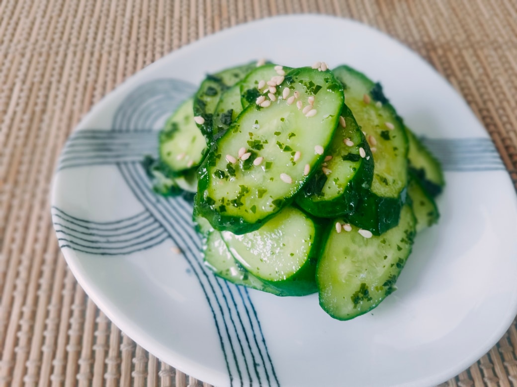
M 194 116 L 202 117 L 203 123 L 198 124 L 201 133 L 205 136 L 206 142 L 212 142 L 212 117 L 216 110 L 221 93 L 235 85 L 257 66 L 257 62 L 246 63 L 224 69 L 216 74 L 208 74 L 197 89 L 194 96 Z

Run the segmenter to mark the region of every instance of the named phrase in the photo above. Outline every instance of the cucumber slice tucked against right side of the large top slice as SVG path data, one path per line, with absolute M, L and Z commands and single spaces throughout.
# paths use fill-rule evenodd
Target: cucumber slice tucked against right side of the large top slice
M 372 183 L 372 153 L 346 104 L 341 117 L 345 126 L 338 125 L 326 153 L 332 158 L 314 173 L 296 197 L 296 203 L 314 216 L 333 218 L 352 213 L 360 192 Z

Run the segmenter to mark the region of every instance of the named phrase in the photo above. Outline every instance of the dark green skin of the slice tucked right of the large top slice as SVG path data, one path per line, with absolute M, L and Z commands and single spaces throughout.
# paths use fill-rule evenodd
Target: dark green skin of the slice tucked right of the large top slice
M 343 105 L 341 116 L 346 117 L 348 115 L 352 116 L 352 119 L 355 121 L 352 111 L 345 104 Z M 358 146 L 362 147 L 366 151 L 367 157 L 369 156 L 369 158 L 362 159 L 361 165 L 356 171 L 354 177 L 348 182 L 343 195 L 328 201 L 312 200 L 312 195 L 308 192 L 308 185 L 311 184 L 314 177 L 306 183 L 297 195 L 296 203 L 309 214 L 318 217 L 333 218 L 335 216 L 351 214 L 356 210 L 356 207 L 362 198 L 361 192 L 366 191 L 364 188 L 365 186 L 370 187 L 373 178 L 373 157 L 370 151 L 370 146 L 362 132 L 360 133 L 360 136 L 362 142 L 359 143 Z

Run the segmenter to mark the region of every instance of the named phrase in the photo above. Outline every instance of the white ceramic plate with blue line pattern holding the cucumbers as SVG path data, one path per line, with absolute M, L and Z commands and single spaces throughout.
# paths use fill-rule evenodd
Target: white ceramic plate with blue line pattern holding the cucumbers
M 140 165 L 156 152 L 150 130 L 207 72 L 262 57 L 347 63 L 381 80 L 443 161 L 439 224 L 418 235 L 398 291 L 354 320 L 330 318 L 317 295 L 280 298 L 214 278 L 200 263 L 189 204 L 154 195 Z M 349 20 L 241 25 L 135 74 L 70 137 L 52 205 L 66 260 L 99 308 L 158 358 L 217 386 L 434 385 L 487 352 L 516 313 L 515 191 L 492 142 L 427 63 Z

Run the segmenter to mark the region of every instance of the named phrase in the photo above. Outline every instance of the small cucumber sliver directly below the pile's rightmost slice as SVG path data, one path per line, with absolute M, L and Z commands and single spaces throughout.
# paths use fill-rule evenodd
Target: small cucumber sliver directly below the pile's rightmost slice
M 417 221 L 417 233 L 438 222 L 440 214 L 438 212 L 436 202 L 430 193 L 423 187 L 418 176 L 411 171 L 409 172 L 407 195 L 412 202 L 413 212 Z

